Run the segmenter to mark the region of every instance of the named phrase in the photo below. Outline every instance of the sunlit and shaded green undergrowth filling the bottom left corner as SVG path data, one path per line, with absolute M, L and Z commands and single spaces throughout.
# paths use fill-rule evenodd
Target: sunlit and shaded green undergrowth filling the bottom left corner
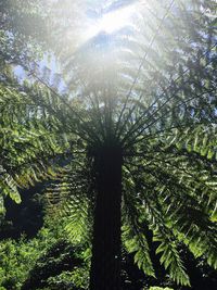
M 82 289 L 87 285 L 88 265 L 82 262 L 82 248 L 63 240 L 65 231 L 60 217 L 49 220 L 34 239 L 0 242 L 1 287 L 30 290 L 61 283 L 69 289 L 68 281 L 73 289 Z

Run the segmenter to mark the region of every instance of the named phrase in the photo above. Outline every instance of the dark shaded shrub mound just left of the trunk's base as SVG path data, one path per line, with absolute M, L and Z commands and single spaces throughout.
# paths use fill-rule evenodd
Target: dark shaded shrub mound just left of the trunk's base
M 88 270 L 81 267 L 79 255 L 79 248 L 75 248 L 64 240 L 55 241 L 36 261 L 22 289 L 43 289 L 47 287 L 59 287 L 60 289 L 63 286 L 69 287 L 69 283 L 73 287 L 81 287 L 84 281 L 88 281 Z M 69 279 L 68 276 L 71 276 Z

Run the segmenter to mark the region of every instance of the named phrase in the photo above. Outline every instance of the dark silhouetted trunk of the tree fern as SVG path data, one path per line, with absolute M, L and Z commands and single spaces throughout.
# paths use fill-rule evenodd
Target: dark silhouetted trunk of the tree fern
M 119 148 L 105 148 L 95 153 L 97 204 L 90 290 L 120 290 L 122 164 Z

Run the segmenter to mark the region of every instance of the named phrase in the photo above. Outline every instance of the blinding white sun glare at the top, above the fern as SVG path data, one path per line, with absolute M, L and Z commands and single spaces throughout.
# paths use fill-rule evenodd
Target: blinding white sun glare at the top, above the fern
M 128 5 L 102 15 L 90 25 L 87 38 L 98 35 L 100 31 L 112 34 L 129 24 L 135 12 L 135 5 Z

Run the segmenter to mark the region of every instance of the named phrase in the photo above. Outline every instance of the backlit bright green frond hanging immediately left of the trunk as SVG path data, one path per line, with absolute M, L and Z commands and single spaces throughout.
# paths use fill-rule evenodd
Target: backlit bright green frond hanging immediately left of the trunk
M 79 161 L 79 162 L 78 162 Z M 44 189 L 47 213 L 59 213 L 65 220 L 73 243 L 90 243 L 92 227 L 92 186 L 82 155 L 66 159 L 59 178 Z

